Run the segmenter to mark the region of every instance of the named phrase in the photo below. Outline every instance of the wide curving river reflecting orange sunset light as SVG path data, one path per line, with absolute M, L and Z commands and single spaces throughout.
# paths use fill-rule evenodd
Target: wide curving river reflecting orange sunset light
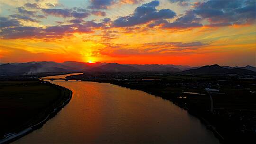
M 52 83 L 72 90 L 71 101 L 42 128 L 14 143 L 219 143 L 199 119 L 160 97 L 109 83 Z

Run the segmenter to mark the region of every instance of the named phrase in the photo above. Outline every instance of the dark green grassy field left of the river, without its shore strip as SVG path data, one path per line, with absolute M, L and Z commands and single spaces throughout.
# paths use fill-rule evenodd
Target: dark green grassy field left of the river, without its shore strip
M 62 90 L 40 81 L 0 81 L 0 137 L 32 125 L 52 107 Z

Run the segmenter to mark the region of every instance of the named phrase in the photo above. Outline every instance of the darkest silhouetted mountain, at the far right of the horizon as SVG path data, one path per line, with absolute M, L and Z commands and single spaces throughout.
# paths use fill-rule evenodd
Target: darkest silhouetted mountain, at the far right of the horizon
M 227 69 L 223 68 L 217 64 L 210 65 L 210 66 L 202 66 L 197 69 L 191 69 L 191 70 L 185 70 L 182 73 L 190 73 L 190 74 L 256 74 L 254 71 L 245 70 L 241 68 L 233 68 L 233 69 Z

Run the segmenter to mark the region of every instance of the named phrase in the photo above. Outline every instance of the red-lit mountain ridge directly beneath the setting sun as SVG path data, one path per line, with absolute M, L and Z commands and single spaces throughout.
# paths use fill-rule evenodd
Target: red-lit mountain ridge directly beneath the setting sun
M 72 68 L 77 69 L 77 70 L 88 70 L 88 69 L 91 69 L 93 67 L 106 65 L 108 63 L 101 63 L 101 62 L 86 63 L 86 62 L 65 61 L 65 62 L 60 63 L 60 64 L 72 67 Z

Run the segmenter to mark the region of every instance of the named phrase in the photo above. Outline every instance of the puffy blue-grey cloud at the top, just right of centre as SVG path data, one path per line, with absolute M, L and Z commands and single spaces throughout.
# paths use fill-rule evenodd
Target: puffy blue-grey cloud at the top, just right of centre
M 119 17 L 113 22 L 114 27 L 131 27 L 138 24 L 145 24 L 150 21 L 174 18 L 176 13 L 170 9 L 155 9 L 159 5 L 159 1 L 152 1 L 143 4 L 134 10 L 129 16 Z

